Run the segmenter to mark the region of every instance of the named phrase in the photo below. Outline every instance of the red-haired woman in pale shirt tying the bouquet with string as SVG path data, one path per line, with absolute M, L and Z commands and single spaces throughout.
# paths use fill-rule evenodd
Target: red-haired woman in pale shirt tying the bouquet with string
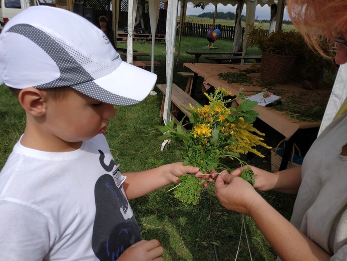
M 308 45 L 319 49 L 319 36 L 337 43 L 335 62 L 347 62 L 347 1 L 288 0 L 287 10 Z M 302 167 L 270 173 L 251 167 L 254 188 L 240 169 L 223 171 L 215 193 L 229 210 L 250 216 L 278 254 L 278 260 L 347 260 L 347 109 L 307 152 Z M 297 194 L 290 222 L 256 190 Z

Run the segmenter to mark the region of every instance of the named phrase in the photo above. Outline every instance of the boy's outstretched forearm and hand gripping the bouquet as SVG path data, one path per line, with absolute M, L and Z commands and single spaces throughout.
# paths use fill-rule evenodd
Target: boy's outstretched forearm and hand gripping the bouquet
M 138 198 L 170 183 L 179 183 L 179 176 L 198 172 L 199 168 L 177 162 L 142 172 L 123 173 L 127 177 L 123 188 L 128 199 Z

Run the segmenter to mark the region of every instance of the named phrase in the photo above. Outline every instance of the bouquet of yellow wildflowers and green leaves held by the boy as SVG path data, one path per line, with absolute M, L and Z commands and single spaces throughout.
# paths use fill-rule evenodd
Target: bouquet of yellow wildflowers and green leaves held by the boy
M 192 129 L 184 131 L 181 127 L 183 119 L 174 126 L 171 120 L 165 126 L 158 126 L 164 133 L 162 140 L 180 140 L 183 142 L 182 154 L 184 165 L 199 167 L 202 173 L 216 170 L 220 159 L 229 157 L 237 159 L 244 167 L 241 178 L 254 185 L 254 174 L 247 164 L 240 160 L 240 154 L 252 152 L 264 157 L 254 149 L 256 145 L 271 149 L 259 136 L 264 134 L 252 126 L 258 113 L 252 110 L 258 103 L 249 101 L 241 93 L 234 99 L 228 99 L 230 92 L 223 88 L 216 88 L 214 93 L 207 94 L 209 102 L 203 107 L 194 107 L 190 104 L 188 111 L 191 113 L 190 123 Z M 227 107 L 235 99 L 242 99 L 237 108 Z M 183 203 L 198 204 L 203 188 L 203 183 L 194 175 L 180 177 L 181 183 L 174 188 L 175 197 Z

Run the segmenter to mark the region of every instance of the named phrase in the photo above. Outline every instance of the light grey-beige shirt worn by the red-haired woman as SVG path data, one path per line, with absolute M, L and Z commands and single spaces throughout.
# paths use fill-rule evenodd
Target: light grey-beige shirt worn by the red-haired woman
M 340 155 L 345 144 L 347 114 L 332 121 L 307 152 L 290 220 L 331 261 L 347 260 L 347 157 Z

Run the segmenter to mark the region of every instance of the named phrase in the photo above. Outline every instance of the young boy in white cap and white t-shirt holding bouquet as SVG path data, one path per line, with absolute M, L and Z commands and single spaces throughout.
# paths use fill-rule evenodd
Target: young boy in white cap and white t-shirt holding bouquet
M 156 75 L 122 62 L 101 30 L 59 8 L 21 12 L 0 46 L 0 84 L 27 115 L 0 173 L 0 259 L 162 260 L 157 240 L 141 240 L 128 199 L 201 172 L 174 163 L 123 176 L 103 135 L 112 104 L 143 100 Z

